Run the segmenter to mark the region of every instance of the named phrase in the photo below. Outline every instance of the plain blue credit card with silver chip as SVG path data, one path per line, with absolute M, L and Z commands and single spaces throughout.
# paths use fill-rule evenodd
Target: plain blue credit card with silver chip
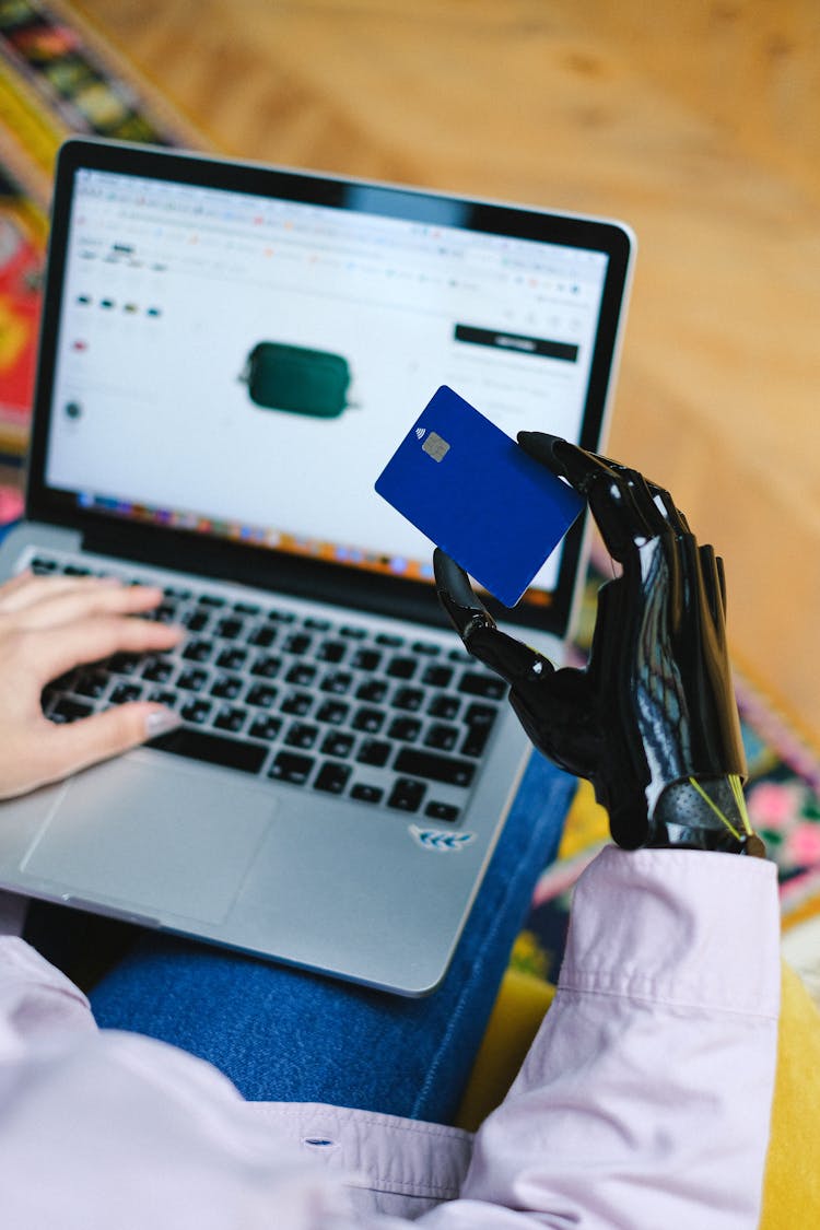
M 505 606 L 515 606 L 584 501 L 443 385 L 376 491 Z

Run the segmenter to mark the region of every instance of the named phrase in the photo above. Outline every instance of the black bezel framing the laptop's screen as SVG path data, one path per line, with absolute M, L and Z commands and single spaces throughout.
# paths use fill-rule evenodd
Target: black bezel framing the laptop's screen
M 143 145 L 71 138 L 64 143 L 58 155 L 52 203 L 26 497 L 27 515 L 32 520 L 80 531 L 85 546 L 90 550 L 125 555 L 165 567 L 179 567 L 184 560 L 184 568 L 189 572 L 230 578 L 322 601 L 339 603 L 342 600 L 339 594 L 343 594 L 343 605 L 353 604 L 363 609 L 441 622 L 439 604 L 429 582 L 373 573 L 315 557 L 293 556 L 269 547 L 209 538 L 194 531 L 143 522 L 132 523 L 97 509 L 82 509 L 74 494 L 45 483 L 45 456 L 74 177 L 81 169 L 224 188 L 355 212 L 361 212 L 363 203 L 366 202 L 364 212 L 371 214 L 400 216 L 433 225 L 443 221 L 446 224 L 447 218 L 457 216 L 457 225 L 471 231 L 606 253 L 607 271 L 580 439 L 584 448 L 591 450 L 600 448 L 633 247 L 632 235 L 622 224 L 408 188 L 403 184 L 237 162 Z M 557 636 L 564 635 L 573 601 L 584 520 L 585 518 L 579 519 L 564 539 L 558 582 L 551 601 L 546 605 L 522 601 L 513 610 L 495 606 L 505 621 L 537 627 Z M 491 609 L 494 606 L 492 601 L 488 605 Z

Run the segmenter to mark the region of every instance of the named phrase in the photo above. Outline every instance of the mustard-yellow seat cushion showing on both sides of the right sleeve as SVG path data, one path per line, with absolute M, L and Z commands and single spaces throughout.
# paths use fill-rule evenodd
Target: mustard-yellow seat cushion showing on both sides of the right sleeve
M 460 1127 L 475 1132 L 502 1101 L 553 995 L 554 988 L 541 978 L 508 969 L 460 1108 Z M 783 964 L 760 1230 L 797 1226 L 820 1226 L 820 1014 L 798 975 Z

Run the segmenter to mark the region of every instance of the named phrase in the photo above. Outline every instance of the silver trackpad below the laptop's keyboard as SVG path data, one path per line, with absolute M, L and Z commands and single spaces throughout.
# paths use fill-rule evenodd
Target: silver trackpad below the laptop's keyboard
M 69 782 L 22 870 L 90 900 L 220 922 L 274 807 L 176 758 L 112 760 Z

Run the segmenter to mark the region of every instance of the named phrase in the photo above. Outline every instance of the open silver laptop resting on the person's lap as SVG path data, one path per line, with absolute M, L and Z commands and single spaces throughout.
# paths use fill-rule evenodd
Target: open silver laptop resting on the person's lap
M 43 705 L 151 697 L 183 726 L 4 803 L 0 886 L 440 983 L 529 745 L 374 482 L 441 384 L 510 435 L 599 448 L 632 252 L 607 220 L 66 141 L 0 577 L 159 583 L 179 649 L 70 672 Z M 556 661 L 584 536 L 498 613 Z

